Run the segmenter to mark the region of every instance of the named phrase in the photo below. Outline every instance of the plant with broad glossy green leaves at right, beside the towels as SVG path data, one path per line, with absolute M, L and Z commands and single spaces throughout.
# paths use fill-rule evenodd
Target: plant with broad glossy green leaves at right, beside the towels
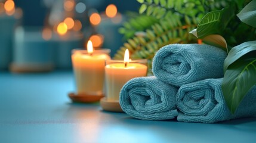
M 247 4 L 247 5 L 246 5 Z M 242 8 L 241 5 L 246 5 Z M 240 101 L 248 93 L 248 91 L 256 85 L 256 0 L 235 1 L 235 4 L 230 5 L 229 8 L 219 11 L 211 11 L 207 13 L 199 22 L 197 29 L 192 30 L 191 33 L 198 38 L 206 38 L 212 34 L 217 34 L 218 38 L 233 31 L 227 43 L 237 45 L 227 49 L 228 56 L 224 61 L 224 79 L 222 84 L 224 98 L 232 114 L 235 113 Z M 235 13 L 240 11 L 235 16 Z M 240 23 L 238 18 L 246 24 Z M 220 28 L 221 27 L 221 28 Z M 231 27 L 231 29 L 230 29 Z M 222 35 L 222 36 L 220 36 Z M 214 45 L 219 45 L 224 41 L 212 42 Z M 249 42 L 245 42 L 249 41 Z M 244 43 L 241 43 L 244 42 Z M 238 45 L 240 44 L 240 45 Z M 220 46 L 223 48 L 223 46 Z

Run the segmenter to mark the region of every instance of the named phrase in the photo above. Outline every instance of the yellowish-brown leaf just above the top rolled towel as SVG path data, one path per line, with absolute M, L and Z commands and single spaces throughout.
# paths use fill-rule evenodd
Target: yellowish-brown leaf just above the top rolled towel
M 204 43 L 207 43 L 208 45 L 217 46 L 218 48 L 221 48 L 224 51 L 228 52 L 227 42 L 223 38 L 223 36 L 220 36 L 220 35 L 208 35 L 205 38 L 203 38 L 202 41 Z

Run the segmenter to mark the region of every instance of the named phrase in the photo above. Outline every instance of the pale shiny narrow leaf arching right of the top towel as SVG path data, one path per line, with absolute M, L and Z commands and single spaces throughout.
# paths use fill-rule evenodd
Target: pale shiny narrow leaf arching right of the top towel
M 256 51 L 256 41 L 244 42 L 232 48 L 224 61 L 224 72 L 232 63 L 251 51 Z

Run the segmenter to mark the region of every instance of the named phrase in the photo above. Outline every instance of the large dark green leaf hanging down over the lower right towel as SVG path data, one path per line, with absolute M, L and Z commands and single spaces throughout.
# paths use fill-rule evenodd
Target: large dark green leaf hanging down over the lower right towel
M 255 54 L 255 53 L 254 53 Z M 232 114 L 243 97 L 256 84 L 256 58 L 240 58 L 229 66 L 222 83 L 222 91 Z

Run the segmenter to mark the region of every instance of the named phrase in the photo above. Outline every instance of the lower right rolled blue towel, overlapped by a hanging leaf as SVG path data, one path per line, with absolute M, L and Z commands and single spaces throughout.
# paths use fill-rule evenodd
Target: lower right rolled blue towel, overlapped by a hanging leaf
M 180 87 L 177 93 L 177 120 L 181 122 L 215 123 L 224 120 L 251 117 L 256 113 L 256 86 L 231 114 L 221 90 L 223 79 L 205 79 Z

